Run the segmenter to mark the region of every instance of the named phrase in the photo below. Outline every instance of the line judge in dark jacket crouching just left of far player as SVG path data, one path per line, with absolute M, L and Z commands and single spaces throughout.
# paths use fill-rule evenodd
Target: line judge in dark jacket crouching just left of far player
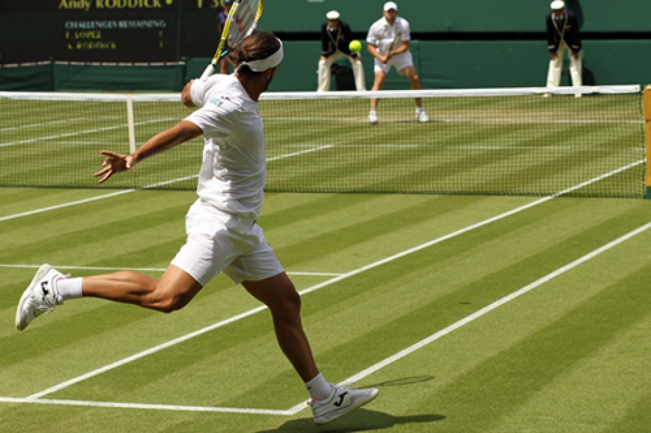
M 331 10 L 326 14 L 328 21 L 321 24 L 321 58 L 319 58 L 319 87 L 317 91 L 330 90 L 330 67 L 341 56 L 348 57 L 352 65 L 357 91 L 365 91 L 364 68 L 359 53 L 350 52 L 352 41 L 350 25 L 339 19 L 339 12 Z

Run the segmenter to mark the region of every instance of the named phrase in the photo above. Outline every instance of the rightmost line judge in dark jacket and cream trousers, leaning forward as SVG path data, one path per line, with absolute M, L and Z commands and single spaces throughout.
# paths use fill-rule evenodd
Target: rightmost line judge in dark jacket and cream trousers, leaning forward
M 545 28 L 547 34 L 547 48 L 551 54 L 549 70 L 547 71 L 547 87 L 558 87 L 561 83 L 561 71 L 566 50 L 570 54 L 570 76 L 572 85 L 581 87 L 581 35 L 579 34 L 579 20 L 570 10 L 565 8 L 565 3 L 556 0 L 551 3 L 552 12 L 547 14 Z M 551 93 L 545 93 L 546 98 Z M 575 93 L 581 98 L 581 93 Z

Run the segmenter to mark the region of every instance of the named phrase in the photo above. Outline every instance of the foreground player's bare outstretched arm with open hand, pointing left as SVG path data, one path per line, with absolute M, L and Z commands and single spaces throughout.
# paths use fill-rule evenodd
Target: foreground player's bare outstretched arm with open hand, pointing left
M 190 122 L 189 120 L 181 120 L 175 126 L 172 126 L 167 131 L 162 131 L 147 140 L 136 152 L 131 155 L 120 155 L 110 151 L 102 151 L 102 155 L 106 157 L 102 164 L 102 169 L 94 174 L 94 177 L 100 177 L 98 184 L 103 184 L 109 180 L 111 176 L 122 173 L 123 171 L 131 170 L 137 162 L 158 155 L 167 151 L 174 146 L 178 146 L 184 142 L 192 140 L 195 137 L 202 135 L 204 131 Z

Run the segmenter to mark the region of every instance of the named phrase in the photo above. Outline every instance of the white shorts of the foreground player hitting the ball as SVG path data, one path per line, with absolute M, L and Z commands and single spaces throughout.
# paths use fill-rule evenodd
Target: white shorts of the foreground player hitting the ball
M 187 241 L 171 264 L 205 286 L 217 274 L 235 284 L 284 271 L 253 217 L 217 210 L 201 199 L 186 215 Z

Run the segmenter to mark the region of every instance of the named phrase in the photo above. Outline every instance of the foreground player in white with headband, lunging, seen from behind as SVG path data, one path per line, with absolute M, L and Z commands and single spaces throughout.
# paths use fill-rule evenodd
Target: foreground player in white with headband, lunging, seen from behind
M 303 332 L 301 298 L 256 223 L 266 177 L 258 99 L 273 80 L 283 55 L 282 43 L 273 34 L 248 36 L 230 54 L 237 65 L 234 74 L 192 80 L 184 87 L 184 104 L 200 109 L 131 155 L 102 152 L 106 159 L 95 174 L 100 183 L 148 157 L 204 136 L 199 199 L 186 216 L 187 241 L 160 280 L 133 271 L 65 278 L 43 265 L 19 302 L 19 330 L 56 305 L 84 296 L 171 313 L 223 271 L 271 311 L 281 350 L 312 397 L 315 423 L 332 421 L 378 395 L 375 388 L 335 386 L 323 378 Z

